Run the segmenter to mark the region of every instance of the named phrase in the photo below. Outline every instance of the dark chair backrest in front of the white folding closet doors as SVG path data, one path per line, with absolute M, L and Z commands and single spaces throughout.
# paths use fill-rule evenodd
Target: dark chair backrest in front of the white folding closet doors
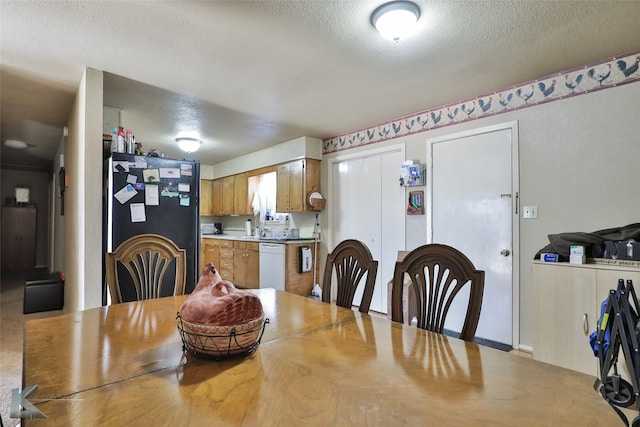
M 331 301 L 331 277 L 334 269 L 338 291 L 336 304 L 347 308 L 352 307 L 356 289 L 364 275 L 367 275 L 359 310 L 362 313 L 368 313 L 378 274 L 378 261 L 373 259 L 369 248 L 359 240 L 347 239 L 340 242 L 333 252 L 327 255 L 322 281 L 324 302 Z

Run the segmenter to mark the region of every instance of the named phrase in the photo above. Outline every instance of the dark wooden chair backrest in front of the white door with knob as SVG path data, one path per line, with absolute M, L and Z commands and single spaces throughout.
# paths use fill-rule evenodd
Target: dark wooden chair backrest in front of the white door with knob
M 411 278 L 415 290 L 418 327 L 442 333 L 453 299 L 469 285 L 469 302 L 460 338 L 473 341 L 482 308 L 484 271 L 459 250 L 441 244 L 420 246 L 396 262 L 391 291 L 391 319 L 403 321 L 402 282 Z

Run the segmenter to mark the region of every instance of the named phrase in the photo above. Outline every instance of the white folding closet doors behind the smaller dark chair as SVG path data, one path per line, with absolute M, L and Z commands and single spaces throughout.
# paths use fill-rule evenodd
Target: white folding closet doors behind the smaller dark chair
M 370 309 L 381 313 L 387 312 L 387 282 L 397 252 L 404 249 L 404 189 L 398 185 L 403 161 L 404 152 L 393 150 L 336 159 L 331 168 L 331 241 L 335 246 L 357 239 L 367 245 L 378 261 Z M 356 303 L 362 291 L 361 286 Z

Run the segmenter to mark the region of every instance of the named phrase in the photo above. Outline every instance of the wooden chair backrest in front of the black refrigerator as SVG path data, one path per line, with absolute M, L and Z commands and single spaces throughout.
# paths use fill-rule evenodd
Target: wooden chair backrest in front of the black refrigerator
M 123 302 L 121 284 L 132 283 L 135 299 L 160 297 L 167 269 L 174 265 L 173 295 L 183 295 L 186 283 L 186 251 L 173 241 L 157 234 L 139 234 L 106 254 L 107 283 L 114 304 Z M 130 277 L 119 277 L 124 267 Z M 128 292 L 132 294 L 132 292 Z

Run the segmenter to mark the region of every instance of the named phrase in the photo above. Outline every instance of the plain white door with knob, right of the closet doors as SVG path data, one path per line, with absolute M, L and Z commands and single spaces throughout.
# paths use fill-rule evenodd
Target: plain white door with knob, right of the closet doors
M 510 346 L 517 336 L 514 311 L 518 305 L 514 304 L 513 276 L 517 250 L 513 226 L 518 222 L 514 126 L 484 128 L 427 143 L 431 164 L 427 198 L 431 236 L 427 240 L 459 249 L 485 271 L 476 337 Z M 451 310 L 452 321 L 445 327 L 459 331 L 466 304 Z

